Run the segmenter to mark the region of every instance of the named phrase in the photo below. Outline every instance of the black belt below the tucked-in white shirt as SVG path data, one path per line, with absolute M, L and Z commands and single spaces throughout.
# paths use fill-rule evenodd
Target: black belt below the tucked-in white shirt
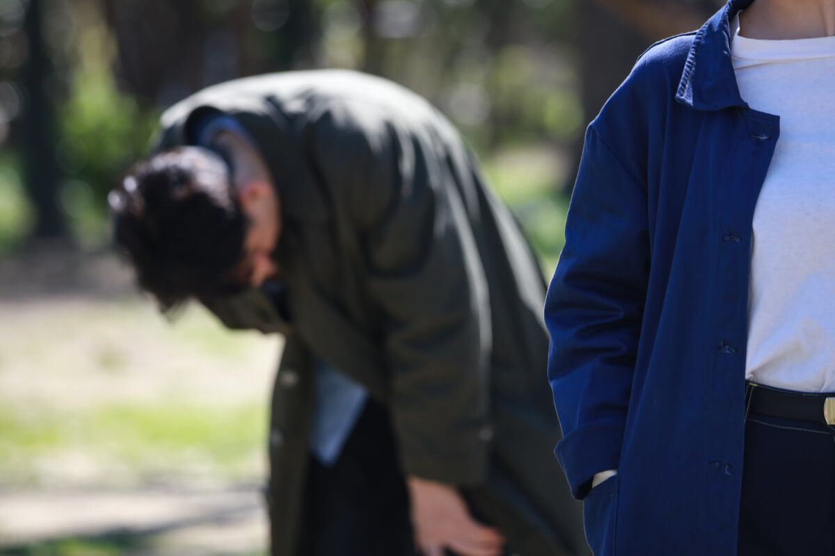
M 746 384 L 746 413 L 835 425 L 835 393 L 805 393 Z

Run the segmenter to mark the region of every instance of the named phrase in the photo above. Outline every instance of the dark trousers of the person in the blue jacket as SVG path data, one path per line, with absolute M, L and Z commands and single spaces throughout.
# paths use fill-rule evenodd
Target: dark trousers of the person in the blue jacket
M 835 434 L 825 423 L 746 419 L 740 556 L 835 554 Z

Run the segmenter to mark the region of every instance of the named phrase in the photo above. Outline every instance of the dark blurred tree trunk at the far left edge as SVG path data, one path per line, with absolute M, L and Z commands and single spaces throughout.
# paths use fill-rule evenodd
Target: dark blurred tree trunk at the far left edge
M 67 221 L 58 203 L 60 170 L 55 159 L 53 100 L 48 95 L 52 64 L 43 41 L 43 2 L 29 0 L 23 28 L 29 58 L 23 68 L 26 111 L 23 132 L 23 174 L 35 213 L 33 238 L 68 238 Z

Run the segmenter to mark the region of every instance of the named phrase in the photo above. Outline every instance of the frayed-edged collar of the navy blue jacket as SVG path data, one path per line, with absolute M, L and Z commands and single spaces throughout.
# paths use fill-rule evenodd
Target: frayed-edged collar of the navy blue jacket
M 747 108 L 731 63 L 731 20 L 754 0 L 728 0 L 693 39 L 676 101 L 696 110 Z

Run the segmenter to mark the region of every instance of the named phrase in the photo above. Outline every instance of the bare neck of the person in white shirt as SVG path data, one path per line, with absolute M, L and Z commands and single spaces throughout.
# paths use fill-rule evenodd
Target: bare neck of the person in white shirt
M 739 16 L 746 38 L 787 40 L 835 35 L 835 0 L 755 0 Z

